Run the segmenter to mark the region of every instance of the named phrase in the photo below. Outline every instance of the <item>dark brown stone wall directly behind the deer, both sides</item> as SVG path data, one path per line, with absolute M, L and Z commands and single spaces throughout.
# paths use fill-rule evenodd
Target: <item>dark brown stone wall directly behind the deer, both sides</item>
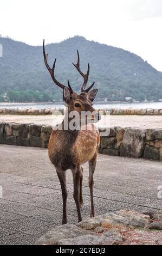
M 0 144 L 48 148 L 51 131 L 45 125 L 0 123 Z M 162 129 L 111 127 L 109 136 L 101 137 L 99 153 L 162 161 Z

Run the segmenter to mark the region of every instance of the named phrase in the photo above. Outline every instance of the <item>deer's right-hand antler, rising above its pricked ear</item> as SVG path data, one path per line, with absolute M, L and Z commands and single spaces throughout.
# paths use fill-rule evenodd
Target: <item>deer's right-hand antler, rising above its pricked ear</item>
M 79 51 L 78 50 L 77 50 L 77 63 L 76 64 L 73 63 L 73 65 L 75 66 L 75 68 L 77 69 L 79 74 L 84 78 L 84 82 L 83 82 L 83 85 L 81 87 L 81 91 L 85 92 L 85 93 L 88 93 L 89 90 L 94 86 L 95 82 L 93 82 L 93 84 L 86 89 L 87 82 L 88 82 L 88 76 L 89 76 L 89 63 L 88 63 L 87 74 L 83 74 L 83 72 L 80 69 L 80 57 L 79 57 Z

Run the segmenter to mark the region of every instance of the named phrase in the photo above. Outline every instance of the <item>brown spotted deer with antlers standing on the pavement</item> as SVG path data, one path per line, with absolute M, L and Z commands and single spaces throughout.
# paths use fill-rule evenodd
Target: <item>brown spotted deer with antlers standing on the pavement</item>
M 95 216 L 94 212 L 94 200 L 93 200 L 93 186 L 94 186 L 94 170 L 96 167 L 96 160 L 98 155 L 98 149 L 100 145 L 100 134 L 98 129 L 93 123 L 98 122 L 101 119 L 100 114 L 93 108 L 93 100 L 95 99 L 98 89 L 92 89 L 94 82 L 91 86 L 86 88 L 89 76 L 89 63 L 87 73 L 84 74 L 80 69 L 80 56 L 77 50 L 77 63 L 73 65 L 83 77 L 83 84 L 81 86 L 81 93 L 77 94 L 73 92 L 70 86 L 69 80 L 67 86 L 56 80 L 55 78 L 55 64 L 56 59 L 51 69 L 48 64 L 48 53 L 45 52 L 44 40 L 43 40 L 43 56 L 44 63 L 48 69 L 50 76 L 56 86 L 59 86 L 63 90 L 63 103 L 68 109 L 65 113 L 64 120 L 68 120 L 68 124 L 72 118 L 70 113 L 76 111 L 79 115 L 79 126 L 81 126 L 82 112 L 93 113 L 90 118 L 86 119 L 85 129 L 53 129 L 49 139 L 48 155 L 51 163 L 53 163 L 57 176 L 60 180 L 62 191 L 62 224 L 67 223 L 67 185 L 66 185 L 66 170 L 72 170 L 73 174 L 73 198 L 76 204 L 78 222 L 82 221 L 81 209 L 83 206 L 82 197 L 82 180 L 83 180 L 83 168 L 82 164 L 88 162 L 89 164 L 89 178 L 88 185 L 90 190 L 90 217 Z M 64 127 L 64 120 L 62 121 L 62 127 Z M 92 129 L 89 129 L 89 125 Z

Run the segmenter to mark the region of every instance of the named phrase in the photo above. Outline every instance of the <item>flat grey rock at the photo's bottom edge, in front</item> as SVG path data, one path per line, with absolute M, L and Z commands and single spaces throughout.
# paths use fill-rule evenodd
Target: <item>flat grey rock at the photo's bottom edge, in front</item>
M 71 239 L 62 239 L 58 245 L 118 245 L 121 241 L 114 236 L 82 235 Z

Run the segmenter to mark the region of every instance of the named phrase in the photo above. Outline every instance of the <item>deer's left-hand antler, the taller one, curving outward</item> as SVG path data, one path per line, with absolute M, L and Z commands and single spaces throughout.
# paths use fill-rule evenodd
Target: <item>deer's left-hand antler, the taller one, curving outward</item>
M 46 65 L 46 68 L 48 69 L 48 71 L 50 73 L 50 76 L 51 76 L 52 80 L 54 81 L 54 83 L 57 86 L 59 86 L 60 88 L 62 88 L 62 89 L 64 87 L 67 87 L 67 86 L 64 86 L 62 83 L 60 83 L 59 81 L 57 81 L 56 78 L 55 78 L 54 71 L 55 71 L 56 58 L 55 58 L 55 61 L 54 61 L 52 69 L 48 65 L 48 53 L 46 54 L 46 52 L 45 52 L 44 40 L 43 40 L 43 56 L 44 56 L 44 63 Z M 68 87 L 67 88 L 69 89 L 69 92 L 72 94 L 73 93 L 73 89 L 72 89 L 72 87 L 70 87 L 69 81 L 68 81 Z

